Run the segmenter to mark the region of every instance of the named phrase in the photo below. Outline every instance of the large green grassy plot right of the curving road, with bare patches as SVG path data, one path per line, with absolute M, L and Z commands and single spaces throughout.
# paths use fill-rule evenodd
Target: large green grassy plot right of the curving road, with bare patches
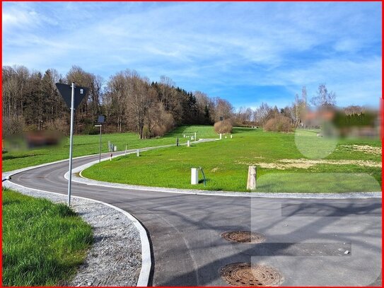
M 205 127 L 204 129 L 208 129 Z M 213 128 L 211 133 L 213 133 Z M 208 131 L 204 133 L 209 134 Z M 170 188 L 246 191 L 248 166 L 257 166 L 256 192 L 361 192 L 379 191 L 381 143 L 374 139 L 341 139 L 332 145 L 308 133 L 263 132 L 235 128 L 233 139 L 146 151 L 92 166 L 87 178 L 116 183 Z M 299 145 L 296 143 L 299 142 Z M 310 145 L 313 142 L 313 145 Z M 325 159 L 308 159 L 319 147 Z M 299 146 L 299 148 L 298 148 Z M 304 148 L 303 148 L 304 147 Z M 299 151 L 300 149 L 300 151 Z M 309 149 L 309 150 L 306 150 Z M 190 168 L 202 166 L 206 186 L 190 185 Z M 143 175 L 149 175 L 143 177 Z M 200 174 L 201 175 L 201 174 Z M 202 180 L 202 176 L 200 176 Z M 201 181 L 202 182 L 202 181 Z

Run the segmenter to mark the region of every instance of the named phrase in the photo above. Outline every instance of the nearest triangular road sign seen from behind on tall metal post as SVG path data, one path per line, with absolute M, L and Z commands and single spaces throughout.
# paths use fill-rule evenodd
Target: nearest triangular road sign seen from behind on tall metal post
M 75 83 L 71 85 L 56 83 L 66 105 L 71 109 L 71 132 L 69 133 L 69 179 L 68 179 L 68 206 L 71 205 L 71 183 L 72 183 L 72 149 L 74 146 L 74 116 L 75 108 L 81 103 L 88 88 L 76 87 Z

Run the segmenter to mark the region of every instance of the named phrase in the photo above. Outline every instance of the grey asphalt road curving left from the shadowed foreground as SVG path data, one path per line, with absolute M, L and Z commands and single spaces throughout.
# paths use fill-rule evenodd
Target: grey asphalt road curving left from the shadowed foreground
M 74 167 L 95 159 L 76 159 Z M 11 181 L 66 194 L 66 171 L 67 161 L 18 173 Z M 380 284 L 381 199 L 185 195 L 81 183 L 72 184 L 72 193 L 120 207 L 144 224 L 153 250 L 153 286 L 226 286 L 220 268 L 243 262 L 275 267 L 284 286 Z M 221 238 L 233 230 L 259 232 L 267 241 Z

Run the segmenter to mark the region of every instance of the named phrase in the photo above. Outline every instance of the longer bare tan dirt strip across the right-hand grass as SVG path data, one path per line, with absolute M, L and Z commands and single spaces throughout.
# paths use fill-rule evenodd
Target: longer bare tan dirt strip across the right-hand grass
M 330 165 L 357 165 L 363 167 L 381 167 L 380 162 L 369 161 L 369 160 L 310 160 L 310 159 L 281 159 L 274 163 L 245 163 L 245 162 L 237 162 L 238 164 L 245 164 L 248 166 L 259 166 L 261 168 L 267 169 L 278 169 L 278 170 L 286 170 L 291 168 L 301 168 L 307 169 L 319 164 L 330 164 Z

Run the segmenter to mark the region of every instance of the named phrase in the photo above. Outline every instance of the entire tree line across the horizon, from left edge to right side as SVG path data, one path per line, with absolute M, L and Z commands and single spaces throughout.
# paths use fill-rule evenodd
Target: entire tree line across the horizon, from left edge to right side
M 2 67 L 2 81 L 3 137 L 25 130 L 69 133 L 69 108 L 55 83 L 74 82 L 89 88 L 76 109 L 76 134 L 97 134 L 94 125 L 98 115 L 105 115 L 104 132 L 137 132 L 140 138 L 162 136 L 178 125 L 213 125 L 220 120 L 230 120 L 231 125 L 289 131 L 303 125 L 303 114 L 308 108 L 336 104 L 335 94 L 320 84 L 310 100 L 303 86 L 300 95 L 296 94 L 293 103 L 285 108 L 262 103 L 255 109 L 235 110 L 227 100 L 211 98 L 201 91 L 185 91 L 167 76 L 151 82 L 129 69 L 103 79 L 77 66 L 71 67 L 65 76 L 55 69 L 42 73 L 23 66 L 6 66 Z M 348 117 L 338 114 L 335 124 L 366 122 L 368 118 L 372 122 L 373 118 L 363 113 L 360 106 L 343 108 L 342 115 Z

